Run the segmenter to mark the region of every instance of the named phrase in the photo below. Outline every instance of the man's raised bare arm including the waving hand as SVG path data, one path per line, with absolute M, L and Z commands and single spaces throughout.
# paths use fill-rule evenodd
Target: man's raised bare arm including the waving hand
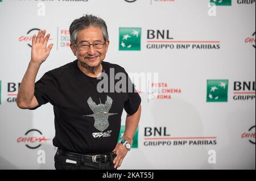
M 44 35 L 46 35 L 46 30 L 40 30 L 38 36 L 34 35 L 32 37 L 31 60 L 20 83 L 16 99 L 17 106 L 22 109 L 34 108 L 39 105 L 38 100 L 34 96 L 35 79 L 40 65 L 46 61 L 53 46 L 53 44 L 50 44 L 46 49 L 50 35 L 48 34 L 46 37 Z

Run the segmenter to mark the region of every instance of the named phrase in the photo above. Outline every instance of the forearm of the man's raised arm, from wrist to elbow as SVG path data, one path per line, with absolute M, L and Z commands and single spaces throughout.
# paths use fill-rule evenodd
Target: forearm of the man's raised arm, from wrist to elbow
M 18 106 L 24 106 L 24 104 L 29 104 L 31 102 L 35 92 L 35 79 L 39 68 L 40 64 L 35 64 L 32 61 L 28 64 L 27 71 L 20 83 L 16 99 Z

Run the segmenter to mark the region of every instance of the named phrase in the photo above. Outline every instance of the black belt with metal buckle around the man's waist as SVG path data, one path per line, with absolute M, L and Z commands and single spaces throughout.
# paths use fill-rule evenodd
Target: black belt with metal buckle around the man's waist
M 86 155 L 86 154 L 79 154 L 79 153 L 72 153 L 65 150 L 58 149 L 58 153 L 63 156 L 73 157 L 78 159 L 86 159 L 88 161 L 92 161 L 94 163 L 104 163 L 108 161 L 113 161 L 114 157 L 116 156 L 114 152 L 106 153 L 106 154 L 97 154 L 97 155 Z

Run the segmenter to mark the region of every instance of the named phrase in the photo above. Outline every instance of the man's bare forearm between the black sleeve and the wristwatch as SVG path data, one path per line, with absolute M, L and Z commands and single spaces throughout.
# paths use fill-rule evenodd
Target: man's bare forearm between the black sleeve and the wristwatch
M 139 119 L 141 117 L 141 105 L 139 105 L 138 111 L 133 115 L 127 115 L 125 123 L 125 133 L 124 137 L 128 137 L 133 140 L 134 134 L 139 124 Z

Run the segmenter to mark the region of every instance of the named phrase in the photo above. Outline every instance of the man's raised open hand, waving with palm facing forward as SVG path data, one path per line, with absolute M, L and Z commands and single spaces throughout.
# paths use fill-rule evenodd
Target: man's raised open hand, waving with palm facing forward
M 34 35 L 32 37 L 31 61 L 35 64 L 42 64 L 46 61 L 46 58 L 49 56 L 52 49 L 53 44 L 49 44 L 47 47 L 50 34 L 44 37 L 45 35 L 46 30 L 40 30 L 38 36 Z

